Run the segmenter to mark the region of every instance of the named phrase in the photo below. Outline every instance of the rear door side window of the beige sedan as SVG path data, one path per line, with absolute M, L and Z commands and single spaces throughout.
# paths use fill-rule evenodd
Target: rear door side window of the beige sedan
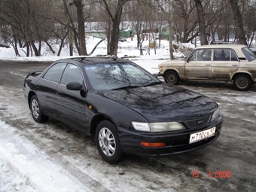
M 231 49 L 215 49 L 214 61 L 238 61 L 236 53 Z

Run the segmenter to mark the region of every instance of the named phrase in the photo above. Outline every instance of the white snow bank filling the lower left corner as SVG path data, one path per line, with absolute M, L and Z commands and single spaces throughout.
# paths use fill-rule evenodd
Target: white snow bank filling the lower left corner
M 49 157 L 33 143 L 15 134 L 11 134 L 10 139 L 14 127 L 1 120 L 0 127 L 0 178 L 4 184 L 0 185 L 0 191 L 86 191 L 81 185 L 74 184 L 70 175 L 63 174 L 62 169 L 48 160 Z M 59 186 L 58 190 L 56 186 Z

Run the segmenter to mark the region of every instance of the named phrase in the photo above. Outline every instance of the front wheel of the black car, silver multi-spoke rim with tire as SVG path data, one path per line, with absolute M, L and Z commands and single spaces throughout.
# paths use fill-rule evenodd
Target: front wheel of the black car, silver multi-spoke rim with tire
M 103 120 L 96 128 L 96 145 L 101 157 L 108 163 L 120 161 L 123 151 L 117 128 L 108 120 Z

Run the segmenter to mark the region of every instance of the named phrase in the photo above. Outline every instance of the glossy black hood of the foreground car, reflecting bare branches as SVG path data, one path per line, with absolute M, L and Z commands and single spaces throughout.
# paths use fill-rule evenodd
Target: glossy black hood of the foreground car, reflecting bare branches
M 100 94 L 132 108 L 151 122 L 202 117 L 218 107 L 216 102 L 200 93 L 168 84 L 111 90 Z

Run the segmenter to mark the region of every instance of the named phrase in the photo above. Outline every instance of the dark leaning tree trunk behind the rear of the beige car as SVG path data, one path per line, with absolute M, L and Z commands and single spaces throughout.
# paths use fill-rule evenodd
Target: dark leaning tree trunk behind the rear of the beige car
M 233 17 L 236 23 L 236 35 L 237 35 L 237 38 L 239 39 L 239 44 L 247 45 L 246 38 L 245 38 L 245 31 L 243 29 L 243 24 L 242 24 L 242 15 L 238 7 L 238 0 L 230 0 L 230 5 L 232 8 Z

